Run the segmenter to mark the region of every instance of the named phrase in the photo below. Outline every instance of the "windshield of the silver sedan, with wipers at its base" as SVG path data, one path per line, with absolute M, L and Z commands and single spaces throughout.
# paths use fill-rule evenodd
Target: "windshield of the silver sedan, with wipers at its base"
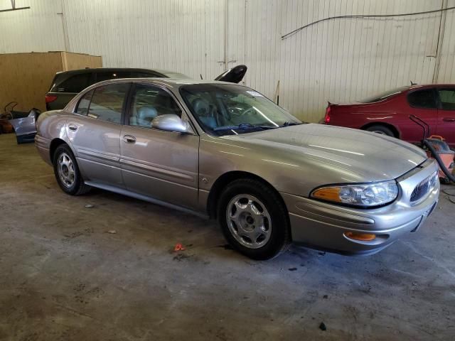
M 180 93 L 209 134 L 245 134 L 302 124 L 299 119 L 248 87 L 229 84 L 184 85 Z

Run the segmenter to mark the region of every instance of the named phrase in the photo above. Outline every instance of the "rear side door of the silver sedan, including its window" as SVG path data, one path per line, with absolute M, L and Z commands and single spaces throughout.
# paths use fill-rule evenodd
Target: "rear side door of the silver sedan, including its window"
M 130 83 L 87 92 L 67 121 L 67 134 L 86 180 L 124 187 L 119 166 L 120 132 Z

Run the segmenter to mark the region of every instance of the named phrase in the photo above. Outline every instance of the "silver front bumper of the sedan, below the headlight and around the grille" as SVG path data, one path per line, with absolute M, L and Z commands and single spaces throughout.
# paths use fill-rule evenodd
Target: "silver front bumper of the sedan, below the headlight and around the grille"
M 437 205 L 439 183 L 417 205 L 411 205 L 412 190 L 439 168 L 434 161 L 397 179 L 400 194 L 385 207 L 365 210 L 282 193 L 289 211 L 293 242 L 345 254 L 370 254 L 422 226 Z M 346 237 L 345 232 L 376 234 L 372 241 Z

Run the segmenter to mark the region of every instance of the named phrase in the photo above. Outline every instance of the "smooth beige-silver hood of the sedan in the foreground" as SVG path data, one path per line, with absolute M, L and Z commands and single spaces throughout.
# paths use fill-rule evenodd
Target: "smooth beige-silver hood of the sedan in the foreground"
M 242 141 L 242 146 L 254 146 L 262 156 L 284 165 L 291 162 L 309 167 L 330 166 L 334 179 L 339 178 L 340 183 L 391 180 L 427 159 L 422 149 L 405 141 L 322 124 L 301 124 L 225 138 Z

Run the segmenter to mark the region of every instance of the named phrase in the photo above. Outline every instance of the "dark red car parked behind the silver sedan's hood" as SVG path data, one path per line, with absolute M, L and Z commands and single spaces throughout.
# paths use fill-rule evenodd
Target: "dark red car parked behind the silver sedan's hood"
M 455 148 L 455 85 L 412 85 L 353 104 L 328 104 L 325 124 L 374 131 L 417 144 L 423 129 L 410 119 L 427 122 L 430 135 L 444 137 Z

